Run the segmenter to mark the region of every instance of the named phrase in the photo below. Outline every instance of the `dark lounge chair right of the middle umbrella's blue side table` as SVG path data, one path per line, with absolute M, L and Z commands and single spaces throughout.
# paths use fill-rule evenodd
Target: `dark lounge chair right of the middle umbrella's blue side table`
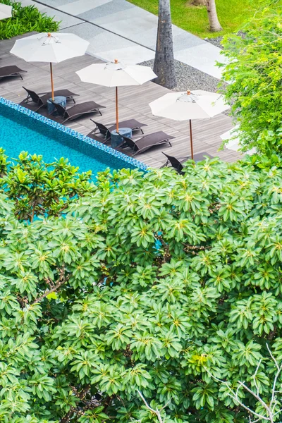
M 128 137 L 123 137 L 123 144 L 119 147 L 119 151 L 122 151 L 125 147 L 130 147 L 133 152 L 130 154 L 131 156 L 135 156 L 135 154 L 139 154 L 141 152 L 145 152 L 145 150 L 154 147 L 156 145 L 161 145 L 166 142 L 171 146 L 170 140 L 173 140 L 175 137 L 164 133 L 160 130 L 157 133 L 152 133 L 149 135 L 145 135 L 144 137 L 139 138 L 139 140 L 132 140 Z M 127 154 L 127 153 L 126 153 Z

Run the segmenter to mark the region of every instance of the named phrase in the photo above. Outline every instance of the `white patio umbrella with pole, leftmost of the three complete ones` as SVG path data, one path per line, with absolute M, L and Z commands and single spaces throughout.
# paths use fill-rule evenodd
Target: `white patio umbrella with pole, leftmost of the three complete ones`
M 50 63 L 51 92 L 54 100 L 54 82 L 52 63 L 83 56 L 89 42 L 74 34 L 61 32 L 42 32 L 30 37 L 17 39 L 10 53 L 25 61 Z

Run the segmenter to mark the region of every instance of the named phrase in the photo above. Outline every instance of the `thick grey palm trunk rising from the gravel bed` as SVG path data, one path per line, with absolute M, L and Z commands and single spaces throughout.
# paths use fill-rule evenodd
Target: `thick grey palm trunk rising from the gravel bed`
M 156 55 L 154 58 L 154 82 L 166 88 L 176 87 L 176 71 L 173 58 L 173 37 L 170 0 L 159 0 L 159 21 Z

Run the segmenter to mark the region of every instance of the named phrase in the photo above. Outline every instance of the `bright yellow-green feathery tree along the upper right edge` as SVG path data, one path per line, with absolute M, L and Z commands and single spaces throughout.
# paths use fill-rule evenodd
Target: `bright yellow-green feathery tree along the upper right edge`
M 282 153 L 282 3 L 272 0 L 243 27 L 224 39 L 226 100 L 240 124 L 243 151 L 252 147 Z

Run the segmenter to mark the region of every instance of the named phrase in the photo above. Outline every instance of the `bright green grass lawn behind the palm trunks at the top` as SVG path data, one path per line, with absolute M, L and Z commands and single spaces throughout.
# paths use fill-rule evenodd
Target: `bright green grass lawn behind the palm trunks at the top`
M 155 15 L 158 14 L 159 0 L 128 1 Z M 238 30 L 244 21 L 255 13 L 257 3 L 256 0 L 216 0 L 219 22 L 223 27 L 221 32 L 209 32 L 207 8 L 192 6 L 190 0 L 171 0 L 171 18 L 175 25 L 198 37 L 218 37 Z

